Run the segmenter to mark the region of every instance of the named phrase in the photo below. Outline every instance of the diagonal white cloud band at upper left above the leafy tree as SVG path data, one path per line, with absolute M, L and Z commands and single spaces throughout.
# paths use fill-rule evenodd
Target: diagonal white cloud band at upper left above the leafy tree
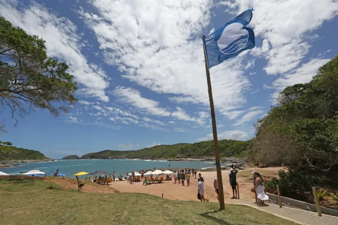
M 42 37 L 46 41 L 48 55 L 68 63 L 69 73 L 85 86 L 79 89 L 78 94 L 109 101 L 104 93 L 109 85 L 107 75 L 100 66 L 87 62 L 81 53 L 81 36 L 68 18 L 59 17 L 37 3 L 22 7 L 22 4 L 11 0 L 0 0 L 0 15 L 26 32 Z

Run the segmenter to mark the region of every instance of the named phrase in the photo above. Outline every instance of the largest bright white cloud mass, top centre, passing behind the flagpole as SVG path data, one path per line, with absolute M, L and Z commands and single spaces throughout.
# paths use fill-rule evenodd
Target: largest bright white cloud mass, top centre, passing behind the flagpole
M 211 0 L 91 3 L 97 15 L 79 14 L 95 33 L 106 62 L 116 65 L 123 78 L 157 93 L 174 94 L 169 98 L 174 102 L 209 105 L 199 37 L 210 23 Z M 243 75 L 245 55 L 211 69 L 215 108 L 220 112 L 246 102 L 243 92 L 250 82 Z

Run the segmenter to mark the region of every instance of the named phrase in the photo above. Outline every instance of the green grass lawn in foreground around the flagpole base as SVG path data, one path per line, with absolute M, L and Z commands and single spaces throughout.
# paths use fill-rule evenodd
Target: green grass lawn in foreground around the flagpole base
M 246 206 L 175 201 L 137 193 L 47 190 L 49 182 L 0 178 L 0 218 L 6 225 L 229 224 L 274 225 L 290 221 Z

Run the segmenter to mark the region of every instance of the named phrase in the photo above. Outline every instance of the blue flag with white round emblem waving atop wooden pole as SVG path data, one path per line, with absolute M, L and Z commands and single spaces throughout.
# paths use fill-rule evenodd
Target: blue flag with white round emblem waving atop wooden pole
M 254 9 L 248 9 L 217 31 L 203 38 L 209 69 L 242 51 L 254 48 L 254 31 L 246 26 Z

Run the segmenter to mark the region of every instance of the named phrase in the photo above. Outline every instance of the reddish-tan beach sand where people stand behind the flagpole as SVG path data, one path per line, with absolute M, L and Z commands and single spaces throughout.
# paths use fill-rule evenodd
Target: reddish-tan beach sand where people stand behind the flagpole
M 282 167 L 268 167 L 263 169 L 249 168 L 247 170 L 239 170 L 237 173 L 237 182 L 239 185 L 239 193 L 241 198 L 254 199 L 254 193 L 250 191 L 253 187 L 253 175 L 252 171 L 257 170 L 265 178 L 277 177 L 277 171 L 280 169 L 285 169 Z M 211 202 L 217 201 L 217 193 L 214 188 L 214 179 L 217 177 L 216 171 L 212 172 L 198 172 L 202 174 L 204 179 L 204 197 L 209 199 Z M 197 175 L 198 175 L 197 173 Z M 229 170 L 222 171 L 223 179 L 223 189 L 224 189 L 224 198 L 230 199 L 232 197 L 232 188 L 229 183 Z M 198 177 L 198 176 L 197 176 Z M 173 200 L 194 200 L 197 201 L 197 179 L 190 178 L 190 187 L 182 186 L 182 184 L 174 184 L 174 181 L 164 181 L 161 184 L 152 184 L 152 185 L 143 185 L 143 182 L 125 182 L 120 181 L 115 184 L 110 185 L 109 187 L 115 188 L 120 192 L 129 192 L 129 193 L 146 193 L 156 196 L 164 195 L 164 198 L 173 199 Z M 103 187 L 106 188 L 106 187 Z

